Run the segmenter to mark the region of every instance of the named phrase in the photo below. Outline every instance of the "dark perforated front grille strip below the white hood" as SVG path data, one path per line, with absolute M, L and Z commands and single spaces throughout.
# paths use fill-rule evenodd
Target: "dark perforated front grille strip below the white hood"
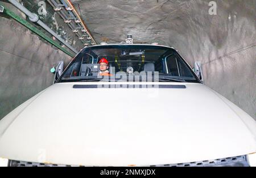
M 246 155 L 234 156 L 230 158 L 203 160 L 199 162 L 177 163 L 177 164 L 157 164 L 148 165 L 146 167 L 212 167 L 212 166 L 235 166 L 248 167 L 249 164 Z M 18 160 L 9 160 L 9 167 L 77 167 L 67 164 L 49 164 L 49 163 L 34 163 L 23 162 Z

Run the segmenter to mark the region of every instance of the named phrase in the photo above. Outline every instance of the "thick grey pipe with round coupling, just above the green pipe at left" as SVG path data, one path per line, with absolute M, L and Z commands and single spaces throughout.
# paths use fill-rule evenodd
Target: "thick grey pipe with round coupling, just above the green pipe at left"
M 51 28 L 49 28 L 45 23 L 43 23 L 41 20 L 39 20 L 38 15 L 33 14 L 30 12 L 26 7 L 22 6 L 19 2 L 16 0 L 8 0 L 10 3 L 12 3 L 16 8 L 18 8 L 20 11 L 22 11 L 24 14 L 28 16 L 28 18 L 31 20 L 31 22 L 38 23 L 39 26 L 43 27 L 47 32 L 51 33 L 52 36 L 56 37 L 61 43 L 63 43 L 65 46 L 67 46 L 69 49 L 71 49 L 74 53 L 78 53 L 75 48 L 73 48 L 71 45 L 66 43 L 57 33 L 52 31 Z

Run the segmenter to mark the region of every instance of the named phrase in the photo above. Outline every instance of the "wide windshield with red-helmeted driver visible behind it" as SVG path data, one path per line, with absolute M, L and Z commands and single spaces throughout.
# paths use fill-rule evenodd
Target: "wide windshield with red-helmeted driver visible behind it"
M 176 50 L 155 45 L 98 45 L 81 50 L 57 82 L 195 82 Z

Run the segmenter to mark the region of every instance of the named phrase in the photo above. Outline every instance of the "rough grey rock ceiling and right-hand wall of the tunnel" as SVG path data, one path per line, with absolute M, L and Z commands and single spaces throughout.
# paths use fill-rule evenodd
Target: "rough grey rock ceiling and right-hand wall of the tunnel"
M 174 46 L 193 67 L 203 63 L 205 84 L 256 119 L 256 0 L 72 1 L 97 43 Z

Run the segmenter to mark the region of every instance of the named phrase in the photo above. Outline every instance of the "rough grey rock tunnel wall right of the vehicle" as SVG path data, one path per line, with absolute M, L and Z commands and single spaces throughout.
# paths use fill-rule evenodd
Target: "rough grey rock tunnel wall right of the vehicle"
M 172 15 L 168 45 L 191 66 L 201 61 L 205 84 L 256 120 L 256 1 L 189 1 Z

